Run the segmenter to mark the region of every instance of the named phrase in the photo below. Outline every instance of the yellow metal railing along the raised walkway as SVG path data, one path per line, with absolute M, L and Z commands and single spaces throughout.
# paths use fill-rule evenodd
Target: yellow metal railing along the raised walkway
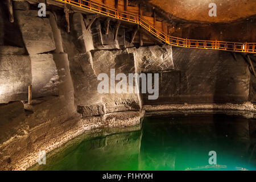
M 256 43 L 238 43 L 238 42 L 224 42 L 217 40 L 193 40 L 193 39 L 184 39 L 177 38 L 175 36 L 168 36 L 163 31 L 155 28 L 153 24 L 143 19 L 138 14 L 129 13 L 127 11 L 119 11 L 112 7 L 108 7 L 101 3 L 86 1 L 86 0 L 55 0 L 63 3 L 68 3 L 81 9 L 86 9 L 93 11 L 94 13 L 102 14 L 105 16 L 110 16 L 115 19 L 120 19 L 126 22 L 139 24 L 141 27 L 149 31 L 156 38 L 159 38 L 163 42 L 179 47 L 188 47 L 188 48 L 201 48 L 201 49 L 220 49 L 224 51 L 233 51 L 233 52 L 256 52 Z

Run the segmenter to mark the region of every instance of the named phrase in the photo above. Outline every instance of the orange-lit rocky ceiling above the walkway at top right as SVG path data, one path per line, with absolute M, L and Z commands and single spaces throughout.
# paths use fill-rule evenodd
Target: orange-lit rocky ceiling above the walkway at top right
M 229 22 L 256 13 L 256 0 L 148 0 L 152 5 L 182 19 Z M 216 3 L 217 16 L 210 17 L 209 3 Z

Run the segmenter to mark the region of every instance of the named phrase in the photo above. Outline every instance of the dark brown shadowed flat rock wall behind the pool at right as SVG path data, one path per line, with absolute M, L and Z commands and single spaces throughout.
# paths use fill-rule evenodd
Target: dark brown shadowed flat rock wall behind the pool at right
M 172 48 L 175 69 L 159 72 L 159 98 L 144 104 L 241 103 L 249 101 L 250 72 L 242 55 Z

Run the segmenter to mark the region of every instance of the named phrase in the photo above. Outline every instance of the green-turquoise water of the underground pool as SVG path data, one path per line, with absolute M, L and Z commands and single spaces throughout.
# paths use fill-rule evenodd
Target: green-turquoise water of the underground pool
M 255 170 L 255 131 L 255 119 L 227 115 L 144 118 L 142 127 L 82 135 L 30 170 Z

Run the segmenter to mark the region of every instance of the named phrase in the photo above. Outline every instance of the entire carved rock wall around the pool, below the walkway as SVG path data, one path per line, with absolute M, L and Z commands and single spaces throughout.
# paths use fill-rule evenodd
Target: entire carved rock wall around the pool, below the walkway
M 33 2 L 15 1 L 14 23 L 0 2 L 0 169 L 26 169 L 39 151 L 49 152 L 86 130 L 137 125 L 143 105 L 255 101 L 249 89 L 254 78 L 241 55 L 235 60 L 222 51 L 135 48 L 125 26 L 114 40 L 117 22 L 111 21 L 107 35 L 105 18 L 88 29 L 92 15 L 77 12 L 69 14 L 67 33 L 62 10 L 49 8 L 39 18 L 39 1 Z M 126 78 L 159 73 L 158 100 L 99 93 L 97 77 L 110 77 L 110 69 Z

